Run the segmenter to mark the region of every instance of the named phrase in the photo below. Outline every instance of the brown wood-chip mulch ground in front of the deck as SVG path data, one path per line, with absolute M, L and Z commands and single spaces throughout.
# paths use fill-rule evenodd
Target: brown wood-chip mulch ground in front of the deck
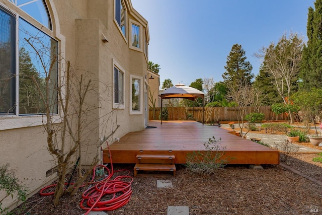
M 188 206 L 189 214 L 322 214 L 322 163 L 312 161 L 318 156 L 294 154 L 282 163 L 301 175 L 281 165 L 265 165 L 263 170 L 226 166 L 215 175 L 191 174 L 178 165 L 176 177 L 167 173 L 135 177 L 129 202 L 106 212 L 167 214 L 172 205 Z M 114 169 L 130 170 L 132 176 L 133 167 L 114 165 Z M 170 180 L 173 188 L 157 188 L 157 180 Z M 64 196 L 54 207 L 52 196 L 36 193 L 15 214 L 84 214 L 86 210 L 79 207 L 81 195 Z

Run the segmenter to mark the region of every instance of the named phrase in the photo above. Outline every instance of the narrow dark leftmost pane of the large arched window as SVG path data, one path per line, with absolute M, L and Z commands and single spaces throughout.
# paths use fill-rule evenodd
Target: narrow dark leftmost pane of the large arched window
M 0 9 L 0 113 L 15 113 L 15 18 Z

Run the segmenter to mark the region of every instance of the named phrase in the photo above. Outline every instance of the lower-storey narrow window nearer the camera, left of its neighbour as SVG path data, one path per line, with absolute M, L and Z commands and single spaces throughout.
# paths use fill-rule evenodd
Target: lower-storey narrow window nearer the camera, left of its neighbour
M 124 74 L 114 67 L 114 105 L 113 108 L 124 108 Z

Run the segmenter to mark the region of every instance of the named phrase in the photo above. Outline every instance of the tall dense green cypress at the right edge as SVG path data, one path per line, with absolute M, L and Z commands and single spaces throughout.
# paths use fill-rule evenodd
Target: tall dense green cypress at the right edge
M 300 71 L 302 81 L 300 88 L 306 91 L 322 86 L 322 0 L 316 0 L 314 8 L 315 11 L 312 7 L 308 9 L 306 26 L 308 41 L 303 48 Z

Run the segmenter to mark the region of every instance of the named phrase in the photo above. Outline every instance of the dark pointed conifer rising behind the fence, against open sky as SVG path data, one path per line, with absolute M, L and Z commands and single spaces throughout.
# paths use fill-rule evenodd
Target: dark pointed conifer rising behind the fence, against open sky
M 229 86 L 243 83 L 243 86 L 251 84 L 254 74 L 252 74 L 253 66 L 249 61 L 246 61 L 245 51 L 241 45 L 234 44 L 227 56 L 226 69 L 222 75 L 224 83 Z

